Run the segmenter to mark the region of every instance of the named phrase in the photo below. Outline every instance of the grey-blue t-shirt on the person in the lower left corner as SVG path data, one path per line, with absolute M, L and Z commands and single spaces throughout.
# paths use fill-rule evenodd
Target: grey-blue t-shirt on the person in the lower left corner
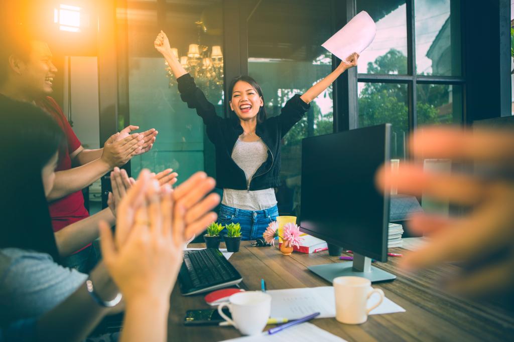
M 0 250 L 0 323 L 50 311 L 86 279 L 87 274 L 62 267 L 46 253 Z

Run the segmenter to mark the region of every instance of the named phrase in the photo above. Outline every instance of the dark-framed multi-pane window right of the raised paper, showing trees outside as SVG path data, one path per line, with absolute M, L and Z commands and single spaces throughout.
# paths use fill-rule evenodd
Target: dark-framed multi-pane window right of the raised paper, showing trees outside
M 392 158 L 406 158 L 413 123 L 463 121 L 461 0 L 356 3 L 377 26 L 359 59 L 358 124 L 391 123 Z

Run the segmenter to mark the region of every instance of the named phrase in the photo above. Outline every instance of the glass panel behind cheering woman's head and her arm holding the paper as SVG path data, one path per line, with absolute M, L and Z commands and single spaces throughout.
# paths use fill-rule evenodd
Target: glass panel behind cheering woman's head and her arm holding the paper
M 279 115 L 295 93 L 332 71 L 332 55 L 321 47 L 332 35 L 329 17 L 327 0 L 263 0 L 255 8 L 248 22 L 248 74 L 263 89 L 268 116 Z M 332 87 L 310 105 L 282 141 L 281 214 L 299 214 L 302 139 L 333 132 Z

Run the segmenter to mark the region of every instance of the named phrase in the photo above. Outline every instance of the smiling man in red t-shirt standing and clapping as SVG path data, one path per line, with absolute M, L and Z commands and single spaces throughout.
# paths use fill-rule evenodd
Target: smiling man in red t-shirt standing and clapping
M 150 129 L 140 134 L 131 134 L 132 130 L 139 127 L 128 126 L 111 136 L 103 148 L 84 149 L 61 107 L 48 96 L 52 92 L 52 81 L 57 72 L 51 62 L 52 54 L 48 45 L 41 41 L 19 43 L 14 37 L 4 37 L 2 40 L 6 42 L 2 42 L 0 52 L 0 101 L 2 97 L 7 97 L 32 102 L 56 119 L 66 134 L 66 144 L 59 153 L 55 184 L 48 196 L 53 230 L 57 232 L 85 218 L 83 223 L 88 225 L 98 226 L 100 220 L 114 224 L 115 218 L 108 208 L 88 218 L 81 189 L 115 166 L 122 166 L 133 156 L 149 151 L 157 131 Z M 77 167 L 72 167 L 74 165 Z M 92 254 L 88 245 L 64 259 L 63 263 L 87 272 L 87 260 Z

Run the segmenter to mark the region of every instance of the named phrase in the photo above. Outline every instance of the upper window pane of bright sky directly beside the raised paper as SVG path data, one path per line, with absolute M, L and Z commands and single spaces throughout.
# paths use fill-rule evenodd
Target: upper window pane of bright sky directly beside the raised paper
M 359 73 L 407 73 L 407 15 L 405 0 L 358 0 L 357 13 L 366 11 L 376 23 L 373 43 L 359 58 Z

